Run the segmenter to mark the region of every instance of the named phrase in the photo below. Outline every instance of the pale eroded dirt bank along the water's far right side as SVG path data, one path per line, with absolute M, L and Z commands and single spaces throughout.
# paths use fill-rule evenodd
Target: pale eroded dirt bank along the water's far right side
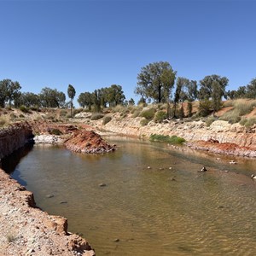
M 112 119 L 102 124 L 102 119 L 78 119 L 81 123 L 95 126 L 101 131 L 112 131 L 132 137 L 148 138 L 151 134 L 176 135 L 183 137 L 190 148 L 207 150 L 218 154 L 231 154 L 256 157 L 256 125 L 247 128 L 238 123 L 231 125 L 227 121 L 216 120 L 211 125 L 201 120 L 166 120 L 158 124 L 150 121 L 141 125 L 143 118 L 133 118 L 128 114 L 125 118 L 114 113 Z M 218 143 L 212 143 L 213 141 Z

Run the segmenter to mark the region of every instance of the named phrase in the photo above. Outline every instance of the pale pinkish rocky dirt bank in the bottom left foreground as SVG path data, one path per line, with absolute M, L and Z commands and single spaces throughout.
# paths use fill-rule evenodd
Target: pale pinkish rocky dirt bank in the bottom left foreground
M 67 232 L 67 219 L 36 207 L 33 195 L 0 169 L 0 255 L 94 255 Z

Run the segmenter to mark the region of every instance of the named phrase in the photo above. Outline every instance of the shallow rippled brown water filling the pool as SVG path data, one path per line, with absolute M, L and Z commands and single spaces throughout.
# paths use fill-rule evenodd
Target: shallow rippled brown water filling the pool
M 97 256 L 256 255 L 256 160 L 108 140 L 119 149 L 103 155 L 36 145 L 12 175 Z

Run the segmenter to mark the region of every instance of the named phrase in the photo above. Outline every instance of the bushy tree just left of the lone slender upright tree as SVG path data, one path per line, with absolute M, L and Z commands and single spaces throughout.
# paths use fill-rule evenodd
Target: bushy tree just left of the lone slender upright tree
M 56 89 L 44 87 L 39 94 L 39 98 L 44 108 L 61 108 L 65 106 L 65 93 Z

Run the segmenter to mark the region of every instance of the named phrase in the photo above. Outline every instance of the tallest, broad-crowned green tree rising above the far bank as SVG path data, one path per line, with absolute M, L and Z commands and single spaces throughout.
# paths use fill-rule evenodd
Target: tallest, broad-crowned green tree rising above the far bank
M 153 99 L 155 102 L 168 102 L 176 72 L 168 62 L 160 61 L 148 64 L 137 75 L 135 93 L 143 99 Z

